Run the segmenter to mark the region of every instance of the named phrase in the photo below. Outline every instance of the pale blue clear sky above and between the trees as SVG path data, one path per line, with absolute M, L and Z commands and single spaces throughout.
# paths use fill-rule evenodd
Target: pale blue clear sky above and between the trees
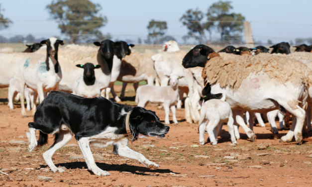
M 113 40 L 146 37 L 151 19 L 167 21 L 167 34 L 176 38 L 188 30 L 179 21 L 188 9 L 207 12 L 217 0 L 91 0 L 102 6 L 100 13 L 108 19 L 100 30 L 109 33 Z M 36 38 L 62 36 L 58 24 L 45 8 L 52 0 L 0 0 L 2 14 L 13 21 L 0 35 L 32 34 Z M 312 0 L 232 0 L 232 12 L 241 13 L 251 22 L 253 38 L 273 42 L 312 37 Z M 212 37 L 217 38 L 215 33 Z

